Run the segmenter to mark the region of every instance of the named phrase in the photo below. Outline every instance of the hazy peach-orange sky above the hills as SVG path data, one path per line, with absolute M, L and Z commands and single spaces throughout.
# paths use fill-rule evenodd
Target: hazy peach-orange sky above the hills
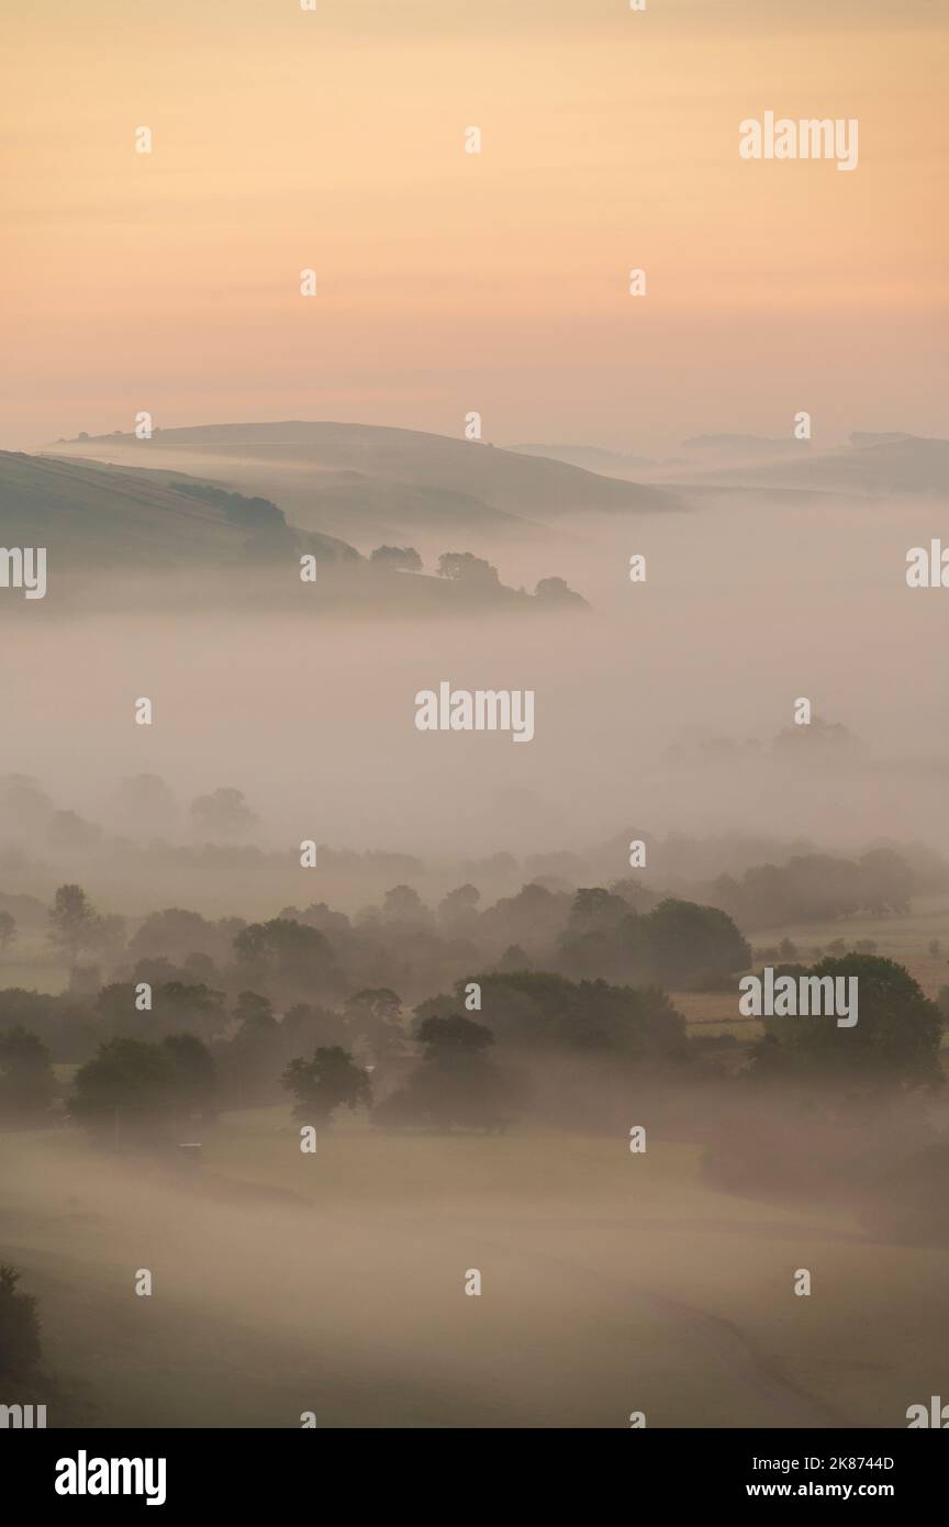
M 949 434 L 946 53 L 928 0 L 21 5 L 0 446 L 139 409 Z M 766 110 L 857 118 L 857 169 L 743 162 Z

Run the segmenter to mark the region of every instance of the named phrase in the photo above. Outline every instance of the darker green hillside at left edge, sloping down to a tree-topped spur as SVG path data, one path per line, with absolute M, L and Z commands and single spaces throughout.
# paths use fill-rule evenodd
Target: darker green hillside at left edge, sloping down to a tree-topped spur
M 44 547 L 50 577 L 61 591 L 69 583 L 70 597 L 79 602 L 95 600 L 104 579 L 111 579 L 110 602 L 122 599 L 119 573 L 174 573 L 160 580 L 160 589 L 154 583 L 160 600 L 174 585 L 185 603 L 252 599 L 308 614 L 314 608 L 360 615 L 586 608 L 557 577 L 542 580 L 531 596 L 464 554 L 452 576 L 432 576 L 433 568 L 403 571 L 366 560 L 345 541 L 288 525 L 270 499 L 182 472 L 67 457 L 0 452 L 0 545 Z M 319 563 L 316 606 L 298 576 L 302 554 Z M 125 597 L 137 602 L 140 592 L 127 588 Z

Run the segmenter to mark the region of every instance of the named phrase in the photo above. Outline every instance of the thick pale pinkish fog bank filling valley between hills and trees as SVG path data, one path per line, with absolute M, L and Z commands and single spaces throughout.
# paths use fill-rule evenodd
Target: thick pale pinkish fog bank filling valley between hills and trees
M 5 620 L 6 765 L 104 823 L 128 774 L 160 774 L 183 797 L 233 785 L 261 817 L 255 841 L 288 851 L 314 838 L 539 852 L 626 823 L 949 847 L 944 611 L 905 579 L 938 505 L 720 492 L 690 504 L 493 557 L 508 585 L 557 574 L 592 605 L 557 617 L 320 620 L 317 583 L 310 620 L 296 583 L 291 609 L 278 592 L 264 614 L 221 608 L 217 580 L 197 576 L 160 592 L 104 583 L 101 612 L 78 614 L 58 608 L 50 568 L 47 599 Z M 420 550 L 430 568 L 446 548 Z M 629 580 L 633 553 L 644 583 Z M 441 680 L 532 689 L 534 741 L 418 731 L 415 693 Z M 134 724 L 139 696 L 151 727 Z M 853 744 L 815 727 L 772 753 L 801 696 Z M 703 747 L 722 739 L 760 747 Z

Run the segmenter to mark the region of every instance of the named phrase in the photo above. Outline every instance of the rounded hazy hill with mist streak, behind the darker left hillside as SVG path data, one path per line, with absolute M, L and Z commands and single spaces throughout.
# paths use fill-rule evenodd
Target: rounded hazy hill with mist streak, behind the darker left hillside
M 447 435 L 287 421 L 56 441 L 55 454 L 165 466 L 264 493 L 294 524 L 363 545 L 420 533 L 536 538 L 569 515 L 676 505 L 664 489 Z

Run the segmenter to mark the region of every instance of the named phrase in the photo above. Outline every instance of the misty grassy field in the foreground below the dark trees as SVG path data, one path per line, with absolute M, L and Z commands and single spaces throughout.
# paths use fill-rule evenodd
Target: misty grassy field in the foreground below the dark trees
M 905 1426 L 944 1388 L 949 1251 L 719 1193 L 694 1145 L 343 1121 L 304 1154 L 281 1107 L 194 1171 L 2 1148 L 50 1425 Z

